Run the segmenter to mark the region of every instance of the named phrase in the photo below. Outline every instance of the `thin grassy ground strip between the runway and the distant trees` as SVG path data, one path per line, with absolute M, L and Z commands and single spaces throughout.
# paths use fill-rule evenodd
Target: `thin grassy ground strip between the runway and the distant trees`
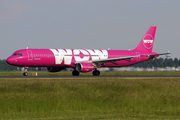
M 47 71 L 29 71 L 28 76 L 72 76 L 72 72 L 47 72 Z M 23 71 L 10 71 L 0 72 L 0 76 L 23 76 Z M 92 76 L 92 72 L 80 73 L 80 76 Z M 180 76 L 180 71 L 114 71 L 114 72 L 101 72 L 100 76 Z

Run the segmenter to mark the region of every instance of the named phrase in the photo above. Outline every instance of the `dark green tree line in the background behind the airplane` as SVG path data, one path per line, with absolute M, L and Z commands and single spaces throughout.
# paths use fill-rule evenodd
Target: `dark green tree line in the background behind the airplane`
M 180 59 L 178 58 L 154 58 L 149 61 L 145 61 L 139 64 L 132 65 L 131 67 L 143 67 L 143 68 L 152 68 L 152 67 L 160 67 L 160 68 L 166 68 L 166 67 L 179 67 L 180 66 Z M 21 70 L 21 68 L 17 66 L 12 66 L 7 64 L 6 60 L 0 60 L 0 71 L 18 71 Z M 30 67 L 28 70 L 30 71 L 44 71 L 44 68 L 37 68 L 37 67 Z

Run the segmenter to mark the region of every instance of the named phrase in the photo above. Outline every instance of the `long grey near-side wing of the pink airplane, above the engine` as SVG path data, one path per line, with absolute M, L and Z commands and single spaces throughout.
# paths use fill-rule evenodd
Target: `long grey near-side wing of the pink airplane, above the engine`
M 100 60 L 90 60 L 90 61 L 77 61 L 77 62 L 75 62 L 75 64 L 78 64 L 78 63 L 81 63 L 81 62 L 94 63 L 96 66 L 104 65 L 107 62 L 117 64 L 116 61 L 121 61 L 121 60 L 131 61 L 130 59 L 135 58 L 135 57 L 140 57 L 140 55 L 127 56 L 127 57 L 118 57 L 118 58 L 109 58 L 109 59 L 100 59 Z

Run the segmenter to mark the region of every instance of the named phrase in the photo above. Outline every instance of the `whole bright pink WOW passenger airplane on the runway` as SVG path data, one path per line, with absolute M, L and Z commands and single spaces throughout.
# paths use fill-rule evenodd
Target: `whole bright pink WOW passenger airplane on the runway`
M 138 46 L 133 50 L 102 49 L 21 49 L 7 58 L 7 63 L 24 67 L 24 76 L 28 67 L 46 67 L 49 72 L 59 72 L 73 68 L 73 76 L 80 72 L 91 72 L 99 76 L 99 67 L 124 67 L 151 60 L 159 55 L 170 53 L 152 52 L 156 26 L 151 26 Z

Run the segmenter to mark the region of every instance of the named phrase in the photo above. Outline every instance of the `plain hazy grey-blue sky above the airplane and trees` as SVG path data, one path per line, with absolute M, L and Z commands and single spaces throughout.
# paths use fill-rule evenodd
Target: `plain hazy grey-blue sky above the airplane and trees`
M 0 59 L 19 49 L 134 49 L 180 58 L 180 0 L 0 0 Z

